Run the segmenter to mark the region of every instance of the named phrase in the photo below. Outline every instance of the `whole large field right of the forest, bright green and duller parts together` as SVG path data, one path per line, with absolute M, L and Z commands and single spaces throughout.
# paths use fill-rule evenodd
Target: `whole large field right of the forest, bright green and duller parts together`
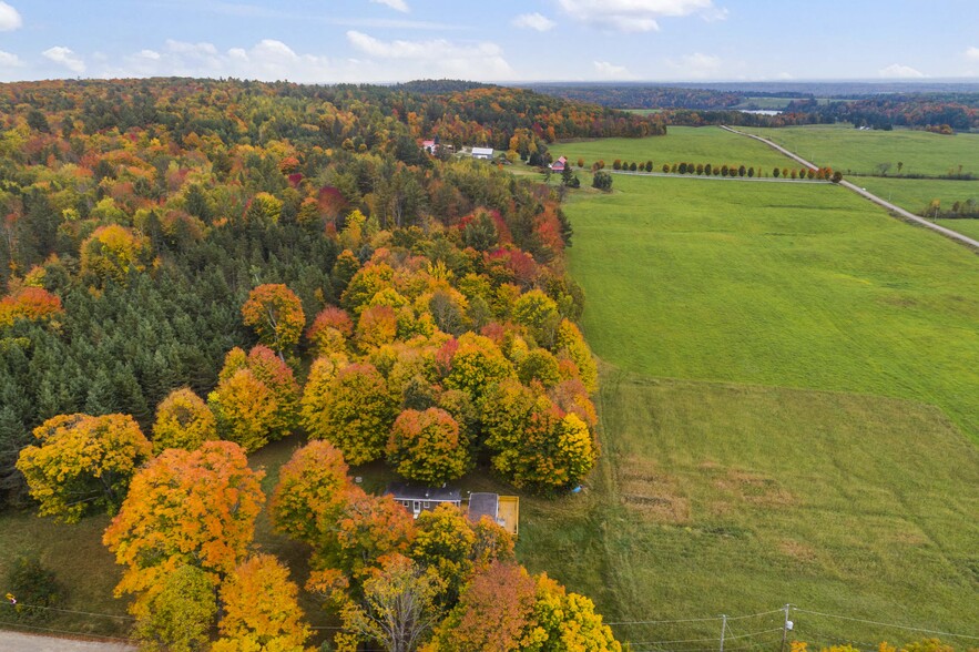
M 720 157 L 732 156 L 706 156 Z M 615 175 L 612 194 L 573 200 L 570 264 L 608 363 L 605 457 L 580 503 L 528 510 L 520 549 L 534 570 L 594 594 L 612 622 L 792 602 L 975 634 L 975 254 L 832 185 Z M 820 643 L 920 638 L 794 620 Z M 702 648 L 720 629 L 615 625 L 623 640 Z M 730 645 L 766 636 L 781 633 Z

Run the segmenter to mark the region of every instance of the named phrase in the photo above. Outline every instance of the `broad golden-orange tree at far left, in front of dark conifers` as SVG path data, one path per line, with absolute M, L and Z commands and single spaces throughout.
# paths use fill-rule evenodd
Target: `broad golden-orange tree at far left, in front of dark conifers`
M 34 428 L 40 446 L 20 452 L 17 468 L 40 516 L 77 522 L 86 513 L 115 513 L 152 445 L 129 415 L 61 415 Z

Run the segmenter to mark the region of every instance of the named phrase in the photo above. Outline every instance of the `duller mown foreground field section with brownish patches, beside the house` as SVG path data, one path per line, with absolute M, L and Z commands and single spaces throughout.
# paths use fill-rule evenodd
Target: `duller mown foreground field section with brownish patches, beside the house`
M 979 455 L 936 408 L 612 368 L 602 380 L 600 469 L 578 505 L 523 510 L 519 551 L 533 570 L 593 595 L 610 622 L 792 603 L 957 633 L 979 628 Z M 817 644 L 867 650 L 920 638 L 793 620 L 794 636 Z M 731 626 L 738 635 L 778 629 L 781 614 Z M 720 629 L 720 619 L 614 625 L 631 642 L 716 639 Z M 726 649 L 772 650 L 779 639 L 768 632 Z

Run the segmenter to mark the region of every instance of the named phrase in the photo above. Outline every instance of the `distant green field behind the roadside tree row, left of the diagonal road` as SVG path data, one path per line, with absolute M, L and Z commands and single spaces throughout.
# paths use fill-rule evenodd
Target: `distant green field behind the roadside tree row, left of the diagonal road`
M 776 165 L 792 167 L 792 161 L 763 143 L 721 130 L 716 126 L 671 126 L 665 136 L 647 139 L 602 139 L 561 142 L 551 145 L 551 152 L 575 163 L 583 157 L 587 165 L 602 159 L 611 169 L 615 159 L 652 161 L 659 170 L 663 163 L 735 164 L 765 170 L 771 174 Z M 796 165 L 797 167 L 798 165 Z

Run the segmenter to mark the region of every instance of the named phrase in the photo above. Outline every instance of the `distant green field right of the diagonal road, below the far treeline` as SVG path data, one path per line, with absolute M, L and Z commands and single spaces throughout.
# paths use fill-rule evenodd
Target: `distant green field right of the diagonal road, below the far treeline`
M 858 131 L 849 125 L 813 125 L 781 129 L 744 128 L 817 165 L 844 174 L 876 174 L 881 163 L 888 174 L 946 175 L 949 171 L 979 176 L 979 134 L 938 135 L 924 131 Z

